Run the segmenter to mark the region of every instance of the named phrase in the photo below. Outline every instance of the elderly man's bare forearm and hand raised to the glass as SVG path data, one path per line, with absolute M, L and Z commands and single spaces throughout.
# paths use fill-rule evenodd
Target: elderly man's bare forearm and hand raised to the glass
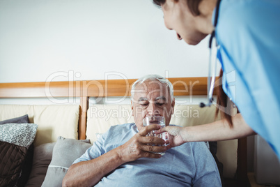
M 162 152 L 166 151 L 166 147 L 151 146 L 148 144 L 164 144 L 164 140 L 160 137 L 146 137 L 148 132 L 159 128 L 160 126 L 158 125 L 146 126 L 120 147 L 112 149 L 93 160 L 82 161 L 71 165 L 63 179 L 63 186 L 94 186 L 102 177 L 123 163 L 142 157 L 160 158 L 160 154 L 153 154 L 150 151 Z

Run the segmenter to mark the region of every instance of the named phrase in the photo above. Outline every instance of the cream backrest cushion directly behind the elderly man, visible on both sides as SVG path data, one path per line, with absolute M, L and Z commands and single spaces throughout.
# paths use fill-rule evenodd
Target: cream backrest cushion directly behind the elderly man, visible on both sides
M 215 121 L 216 107 L 201 108 L 198 105 L 176 105 L 170 124 L 196 126 Z M 110 126 L 133 123 L 131 105 L 93 105 L 88 109 L 86 137 L 91 143 Z M 217 120 L 220 117 L 217 118 Z M 217 157 L 224 164 L 224 177 L 234 178 L 237 169 L 238 140 L 218 142 Z

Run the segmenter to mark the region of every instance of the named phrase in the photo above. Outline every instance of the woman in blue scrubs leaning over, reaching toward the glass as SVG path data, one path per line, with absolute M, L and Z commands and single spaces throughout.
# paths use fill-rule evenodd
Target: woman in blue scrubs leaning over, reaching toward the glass
M 161 6 L 167 29 L 189 45 L 215 31 L 223 89 L 240 111 L 211 124 L 162 128 L 159 133 L 171 135 L 169 148 L 258 133 L 280 159 L 280 1 L 153 1 Z

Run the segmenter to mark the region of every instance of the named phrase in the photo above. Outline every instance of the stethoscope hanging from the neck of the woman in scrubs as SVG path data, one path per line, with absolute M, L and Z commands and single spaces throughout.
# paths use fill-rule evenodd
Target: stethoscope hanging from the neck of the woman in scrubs
M 213 91 L 214 91 L 214 86 L 215 86 L 215 77 L 216 77 L 216 68 L 217 68 L 217 50 L 219 48 L 217 40 L 215 38 L 215 30 L 218 22 L 218 17 L 219 17 L 219 4 L 221 3 L 221 0 L 217 1 L 217 6 L 216 6 L 216 12 L 215 12 L 215 20 L 214 20 L 214 30 L 211 33 L 210 40 L 209 40 L 209 49 L 210 49 L 210 54 L 209 54 L 209 70 L 208 70 L 208 80 L 207 80 L 207 95 L 208 95 L 208 104 L 205 103 L 200 103 L 200 107 L 210 107 L 213 102 Z M 211 77 L 211 67 L 212 67 L 212 43 L 215 42 L 216 45 L 216 52 L 215 52 L 215 66 L 212 70 L 212 78 Z

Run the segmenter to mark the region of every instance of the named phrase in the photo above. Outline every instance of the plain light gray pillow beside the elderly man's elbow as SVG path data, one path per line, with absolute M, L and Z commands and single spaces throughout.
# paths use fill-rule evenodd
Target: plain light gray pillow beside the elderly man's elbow
M 68 167 L 91 147 L 89 140 L 79 140 L 58 137 L 52 154 L 52 161 L 42 186 L 62 186 L 62 180 Z

